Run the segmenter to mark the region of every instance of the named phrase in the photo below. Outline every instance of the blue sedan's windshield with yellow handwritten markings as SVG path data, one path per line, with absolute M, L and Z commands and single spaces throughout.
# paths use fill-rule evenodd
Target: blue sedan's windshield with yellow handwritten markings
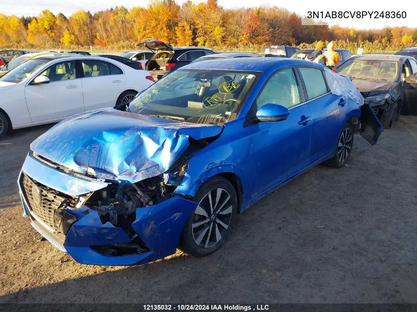
M 200 124 L 236 118 L 257 73 L 212 69 L 177 70 L 130 104 L 131 112 Z

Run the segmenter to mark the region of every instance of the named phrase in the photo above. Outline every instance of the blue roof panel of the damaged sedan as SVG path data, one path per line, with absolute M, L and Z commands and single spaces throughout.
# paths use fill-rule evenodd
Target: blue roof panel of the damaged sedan
M 204 62 L 191 63 L 182 69 L 225 69 L 225 70 L 247 70 L 247 71 L 264 71 L 274 64 L 287 65 L 314 65 L 312 62 L 289 59 L 289 58 L 269 58 L 269 57 L 248 57 L 232 59 L 216 59 Z

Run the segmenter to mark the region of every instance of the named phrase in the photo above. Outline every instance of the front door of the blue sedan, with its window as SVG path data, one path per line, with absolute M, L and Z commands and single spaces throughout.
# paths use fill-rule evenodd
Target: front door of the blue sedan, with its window
M 247 127 L 252 144 L 252 196 L 302 171 L 310 153 L 310 109 L 304 103 L 300 79 L 294 67 L 280 69 L 266 81 L 254 105 L 288 107 L 286 120 L 259 122 Z

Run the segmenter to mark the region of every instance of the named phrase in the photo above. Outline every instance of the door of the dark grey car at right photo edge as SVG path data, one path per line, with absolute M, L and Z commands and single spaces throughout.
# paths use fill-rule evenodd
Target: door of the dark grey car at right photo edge
M 403 81 L 404 103 L 401 110 L 403 115 L 417 116 L 417 62 L 409 59 L 412 74 Z

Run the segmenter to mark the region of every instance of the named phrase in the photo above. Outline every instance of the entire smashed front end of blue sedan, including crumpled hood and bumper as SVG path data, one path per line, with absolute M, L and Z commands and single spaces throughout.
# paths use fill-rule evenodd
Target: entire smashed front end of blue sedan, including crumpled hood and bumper
M 77 147 L 74 134 L 67 136 L 65 127 L 55 126 L 32 144 L 19 176 L 23 208 L 33 227 L 77 262 L 133 265 L 174 253 L 197 205 L 175 190 L 188 159 L 222 131 L 217 126 L 183 128 L 178 122 L 161 127 L 140 118 L 132 131 L 126 125 L 129 115 L 122 112 L 119 116 L 128 119 L 113 129 L 107 124 L 106 135 L 90 127 L 78 136 Z M 76 128 L 84 122 L 91 126 L 95 118 L 94 113 L 76 118 Z M 47 152 L 57 142 L 59 149 Z M 126 149 L 128 155 L 119 158 Z

